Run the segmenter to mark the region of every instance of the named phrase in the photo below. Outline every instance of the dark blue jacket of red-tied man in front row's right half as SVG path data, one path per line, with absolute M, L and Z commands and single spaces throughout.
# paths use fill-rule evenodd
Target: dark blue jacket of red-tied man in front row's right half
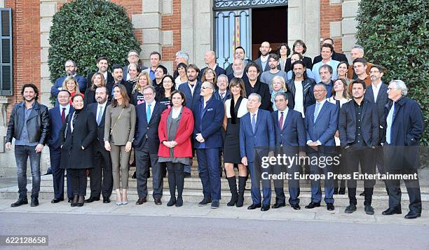
M 304 120 L 301 113 L 293 109 L 288 109 L 285 123 L 283 123 L 283 127 L 280 129 L 278 112 L 274 111 L 271 113 L 274 124 L 275 145 L 306 146 L 306 128 L 304 127 Z M 298 149 L 298 147 L 293 149 Z

